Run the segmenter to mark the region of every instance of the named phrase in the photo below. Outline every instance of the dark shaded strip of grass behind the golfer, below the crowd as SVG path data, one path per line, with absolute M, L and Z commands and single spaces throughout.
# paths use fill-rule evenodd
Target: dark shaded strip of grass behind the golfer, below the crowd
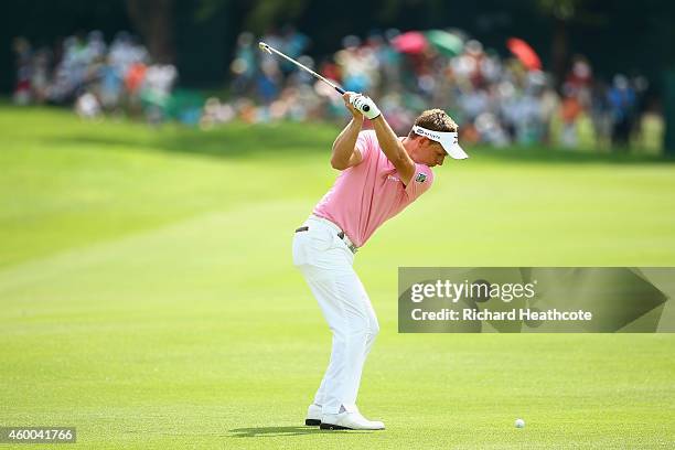
M 103 131 L 103 132 L 101 132 Z M 125 132 L 117 126 L 92 131 L 51 136 L 50 146 L 77 146 L 98 148 L 126 148 L 129 150 L 159 150 L 176 153 L 203 154 L 226 159 L 250 157 L 287 158 L 310 153 L 329 154 L 333 140 L 340 132 L 339 125 L 281 122 L 276 125 L 246 125 L 232 122 L 202 131 L 199 129 L 167 126 L 158 130 L 136 128 Z M 675 156 L 634 154 L 628 150 L 612 152 L 565 150 L 559 148 L 470 147 L 470 162 L 503 161 L 510 163 L 550 164 L 673 164 Z

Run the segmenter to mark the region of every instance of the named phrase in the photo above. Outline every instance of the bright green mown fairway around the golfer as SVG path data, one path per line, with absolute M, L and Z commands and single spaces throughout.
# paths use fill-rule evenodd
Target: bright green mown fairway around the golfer
M 303 427 L 330 332 L 290 245 L 338 131 L 0 107 L 0 426 L 82 448 L 675 447 L 675 335 L 397 334 L 399 266 L 675 266 L 674 161 L 536 149 L 447 161 L 357 254 L 382 326 L 358 404 L 387 429 Z

